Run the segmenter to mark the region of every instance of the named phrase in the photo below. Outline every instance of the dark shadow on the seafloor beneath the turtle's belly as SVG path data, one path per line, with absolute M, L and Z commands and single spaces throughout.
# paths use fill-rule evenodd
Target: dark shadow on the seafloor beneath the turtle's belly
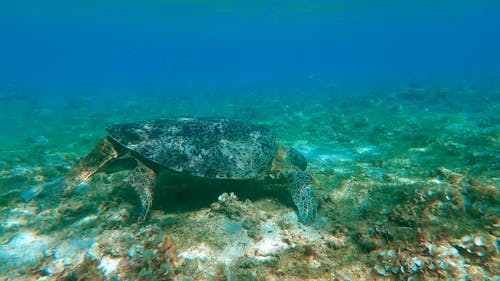
M 184 213 L 208 208 L 224 192 L 234 192 L 241 201 L 272 199 L 285 206 L 294 206 L 286 183 L 208 179 L 164 172 L 158 177 L 155 187 L 153 210 Z

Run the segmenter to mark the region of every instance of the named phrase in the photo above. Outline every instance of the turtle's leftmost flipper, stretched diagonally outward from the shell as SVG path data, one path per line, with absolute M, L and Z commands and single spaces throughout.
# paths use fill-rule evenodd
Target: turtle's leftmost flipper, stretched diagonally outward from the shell
M 120 154 L 121 151 L 109 138 L 100 141 L 65 177 L 64 195 L 71 194 L 76 186 L 90 178 L 111 160 L 118 158 Z

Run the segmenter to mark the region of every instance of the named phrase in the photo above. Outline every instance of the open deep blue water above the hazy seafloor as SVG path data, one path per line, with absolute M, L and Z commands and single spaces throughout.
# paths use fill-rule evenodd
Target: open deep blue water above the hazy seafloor
M 92 96 L 499 76 L 499 1 L 314 2 L 2 1 L 0 89 Z

